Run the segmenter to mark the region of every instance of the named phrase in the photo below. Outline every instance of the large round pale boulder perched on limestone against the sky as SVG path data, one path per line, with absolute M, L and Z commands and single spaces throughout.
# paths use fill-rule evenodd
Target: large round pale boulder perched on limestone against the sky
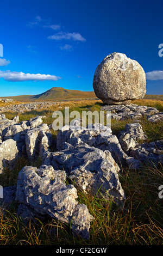
M 145 96 L 146 74 L 136 60 L 114 52 L 97 66 L 93 89 L 105 104 L 127 104 Z

